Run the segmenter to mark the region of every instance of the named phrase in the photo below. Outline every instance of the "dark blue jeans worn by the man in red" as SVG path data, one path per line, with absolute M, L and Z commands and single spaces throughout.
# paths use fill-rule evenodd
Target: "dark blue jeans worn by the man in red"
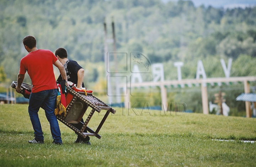
M 28 113 L 30 115 L 30 120 L 34 129 L 35 137 L 40 141 L 43 141 L 44 137 L 41 123 L 38 117 L 38 111 L 41 105 L 43 105 L 46 118 L 50 123 L 52 138 L 55 142 L 62 143 L 62 139 L 60 137 L 59 124 L 54 114 L 56 97 L 57 89 L 43 90 L 37 93 L 30 94 Z

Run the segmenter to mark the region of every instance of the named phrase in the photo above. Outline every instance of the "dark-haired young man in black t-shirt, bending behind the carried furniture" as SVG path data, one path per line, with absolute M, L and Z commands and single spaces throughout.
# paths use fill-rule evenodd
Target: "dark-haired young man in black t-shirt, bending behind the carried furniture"
M 68 81 L 76 84 L 76 88 L 84 88 L 84 82 L 83 82 L 84 69 L 76 61 L 68 59 L 68 53 L 67 53 L 66 49 L 64 49 L 64 48 L 56 49 L 55 56 L 59 59 L 59 61 L 64 66 Z M 58 83 L 60 83 L 60 81 L 62 81 L 61 75 L 57 79 Z M 84 123 L 83 118 L 81 119 L 81 122 Z M 78 129 L 81 129 L 83 126 L 82 123 L 72 124 L 72 125 Z M 87 133 L 86 130 L 85 130 L 85 132 Z M 89 136 L 86 136 L 86 138 L 82 138 L 80 135 L 78 135 L 78 138 L 75 140 L 75 143 L 90 145 L 91 143 L 89 140 L 90 140 Z

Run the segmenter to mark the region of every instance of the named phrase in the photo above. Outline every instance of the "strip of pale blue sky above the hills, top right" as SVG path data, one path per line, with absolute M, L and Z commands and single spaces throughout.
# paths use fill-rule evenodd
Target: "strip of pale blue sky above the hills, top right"
M 167 1 L 178 1 L 178 0 L 162 0 L 164 2 Z M 223 7 L 226 8 L 234 8 L 234 7 L 249 7 L 256 6 L 256 0 L 191 0 L 196 7 L 201 6 L 213 6 L 213 7 Z

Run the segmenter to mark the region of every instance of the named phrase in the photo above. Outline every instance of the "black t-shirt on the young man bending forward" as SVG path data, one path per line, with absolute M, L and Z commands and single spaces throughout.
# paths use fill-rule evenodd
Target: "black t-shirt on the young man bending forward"
M 73 82 L 74 84 L 77 84 L 77 81 L 78 81 L 77 73 L 78 73 L 79 69 L 81 69 L 81 68 L 82 67 L 76 61 L 69 60 L 69 62 L 67 63 L 66 69 L 65 69 L 68 81 Z M 62 81 L 61 74 L 59 75 L 59 77 L 57 79 L 57 83 L 60 83 L 60 81 Z M 84 82 L 82 83 L 82 87 L 84 88 Z

